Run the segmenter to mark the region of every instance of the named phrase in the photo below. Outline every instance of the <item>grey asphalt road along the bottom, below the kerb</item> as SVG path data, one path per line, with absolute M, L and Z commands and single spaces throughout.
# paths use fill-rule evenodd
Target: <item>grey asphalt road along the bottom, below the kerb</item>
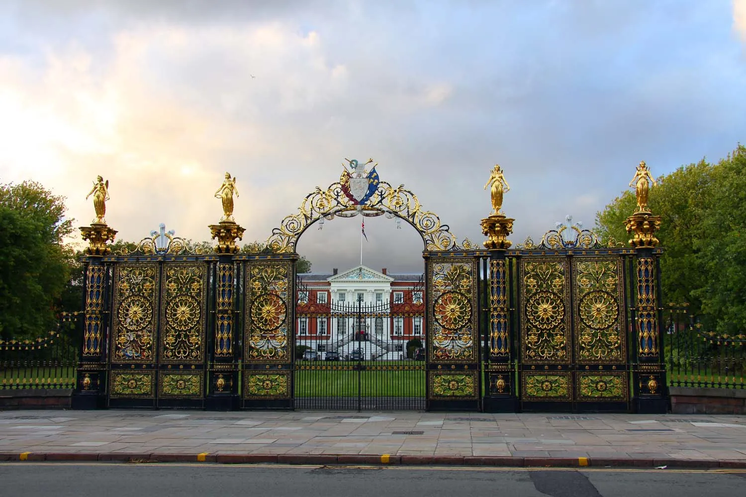
M 745 485 L 736 470 L 0 463 L 2 496 L 735 497 Z

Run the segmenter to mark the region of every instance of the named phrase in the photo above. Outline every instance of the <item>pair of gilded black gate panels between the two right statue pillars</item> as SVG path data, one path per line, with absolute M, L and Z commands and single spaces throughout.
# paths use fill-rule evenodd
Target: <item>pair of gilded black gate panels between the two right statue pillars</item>
M 521 409 L 628 411 L 621 256 L 519 260 Z

